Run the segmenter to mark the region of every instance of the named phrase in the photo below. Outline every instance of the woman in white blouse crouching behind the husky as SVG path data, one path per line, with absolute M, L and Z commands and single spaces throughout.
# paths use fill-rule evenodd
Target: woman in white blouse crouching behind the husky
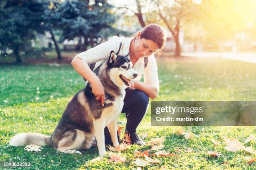
M 90 70 L 88 65 L 96 63 L 95 68 L 102 60 L 108 59 L 111 50 L 117 52 L 120 42 L 120 55 L 127 55 L 133 64 L 133 70 L 138 72 L 136 79 L 129 82 L 131 88 L 127 88 L 122 113 L 126 114 L 127 123 L 125 133 L 128 133 L 132 144 L 145 145 L 139 138 L 136 128 L 140 124 L 147 111 L 148 97 L 156 98 L 159 92 L 159 80 L 157 75 L 156 60 L 153 55 L 157 50 L 164 47 L 166 32 L 164 28 L 157 24 L 147 25 L 137 32 L 134 37 L 112 37 L 110 40 L 97 45 L 85 52 L 81 52 L 72 60 L 74 69 L 88 80 L 92 85 L 92 92 L 97 100 L 105 102 L 104 87 L 100 79 Z M 147 64 L 144 57 L 147 56 Z M 145 67 L 146 66 L 146 67 Z M 144 77 L 144 82 L 139 81 Z M 133 88 L 134 87 L 134 88 Z M 111 138 L 108 128 L 105 128 L 105 144 L 110 144 Z

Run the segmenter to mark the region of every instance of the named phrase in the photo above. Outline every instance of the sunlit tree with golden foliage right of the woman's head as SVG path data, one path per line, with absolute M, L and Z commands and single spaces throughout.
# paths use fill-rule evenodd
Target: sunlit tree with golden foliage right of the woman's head
M 175 55 L 181 55 L 179 43 L 180 28 L 192 18 L 196 18 L 200 12 L 200 4 L 194 0 L 154 0 L 157 13 L 164 21 L 168 30 L 172 33 L 176 44 Z

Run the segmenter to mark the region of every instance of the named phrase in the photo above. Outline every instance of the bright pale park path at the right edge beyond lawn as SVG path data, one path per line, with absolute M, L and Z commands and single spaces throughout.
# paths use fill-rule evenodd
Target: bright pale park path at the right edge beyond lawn
M 185 52 L 182 53 L 182 56 L 203 58 L 217 57 L 256 63 L 256 52 Z

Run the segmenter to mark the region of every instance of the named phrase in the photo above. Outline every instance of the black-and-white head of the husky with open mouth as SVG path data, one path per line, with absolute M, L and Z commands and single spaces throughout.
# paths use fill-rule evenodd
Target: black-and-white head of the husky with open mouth
M 131 61 L 126 56 L 116 55 L 114 51 L 110 52 L 108 59 L 108 68 L 110 69 L 110 78 L 118 87 L 129 86 L 129 81 L 138 76 L 138 73 L 132 69 Z

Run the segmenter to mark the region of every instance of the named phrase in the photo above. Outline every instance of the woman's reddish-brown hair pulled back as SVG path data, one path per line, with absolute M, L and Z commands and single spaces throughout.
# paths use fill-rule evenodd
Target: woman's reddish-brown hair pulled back
M 136 34 L 133 36 L 136 36 Z M 152 40 L 162 50 L 166 40 L 166 32 L 161 25 L 149 24 L 141 29 L 141 38 Z

